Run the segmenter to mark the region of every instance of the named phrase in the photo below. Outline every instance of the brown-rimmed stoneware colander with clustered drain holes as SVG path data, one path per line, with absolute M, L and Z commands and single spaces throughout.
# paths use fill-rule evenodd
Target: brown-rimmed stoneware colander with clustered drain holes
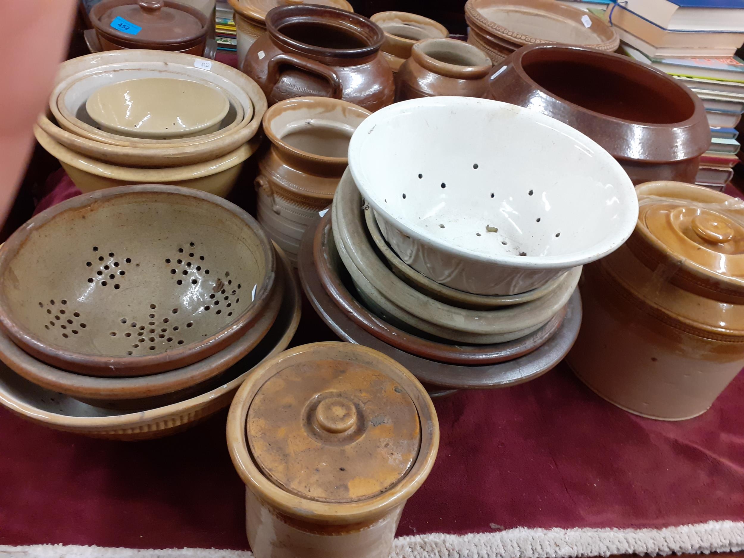
M 43 211 L 4 243 L 0 325 L 57 368 L 142 376 L 238 339 L 274 281 L 272 245 L 236 205 L 173 186 L 111 188 Z

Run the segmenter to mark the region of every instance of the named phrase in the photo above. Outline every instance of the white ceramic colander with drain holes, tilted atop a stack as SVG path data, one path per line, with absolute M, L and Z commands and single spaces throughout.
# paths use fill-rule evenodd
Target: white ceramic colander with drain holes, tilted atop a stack
M 380 164 L 391 153 L 399 164 Z M 638 218 L 630 179 L 602 147 L 493 100 L 426 97 L 375 112 L 351 138 L 349 170 L 405 263 L 479 295 L 526 292 L 597 260 Z

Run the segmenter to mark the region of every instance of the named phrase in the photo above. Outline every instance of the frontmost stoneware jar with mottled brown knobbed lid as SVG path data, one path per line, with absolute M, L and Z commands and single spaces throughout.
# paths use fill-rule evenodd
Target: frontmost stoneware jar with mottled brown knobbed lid
M 387 558 L 439 443 L 429 395 L 361 345 L 295 347 L 254 370 L 230 407 L 256 558 Z

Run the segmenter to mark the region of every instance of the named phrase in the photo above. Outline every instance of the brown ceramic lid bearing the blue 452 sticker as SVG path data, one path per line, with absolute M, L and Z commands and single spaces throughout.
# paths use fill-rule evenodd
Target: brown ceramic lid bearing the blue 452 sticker
M 131 42 L 169 45 L 199 39 L 207 31 L 199 10 L 170 0 L 103 0 L 95 14 L 99 31 Z

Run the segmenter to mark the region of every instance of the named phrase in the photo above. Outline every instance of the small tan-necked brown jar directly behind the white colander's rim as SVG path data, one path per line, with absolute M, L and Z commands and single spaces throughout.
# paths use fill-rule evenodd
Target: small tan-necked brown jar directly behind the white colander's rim
M 411 49 L 397 75 L 395 100 L 417 97 L 483 97 L 491 60 L 457 39 L 426 39 Z

